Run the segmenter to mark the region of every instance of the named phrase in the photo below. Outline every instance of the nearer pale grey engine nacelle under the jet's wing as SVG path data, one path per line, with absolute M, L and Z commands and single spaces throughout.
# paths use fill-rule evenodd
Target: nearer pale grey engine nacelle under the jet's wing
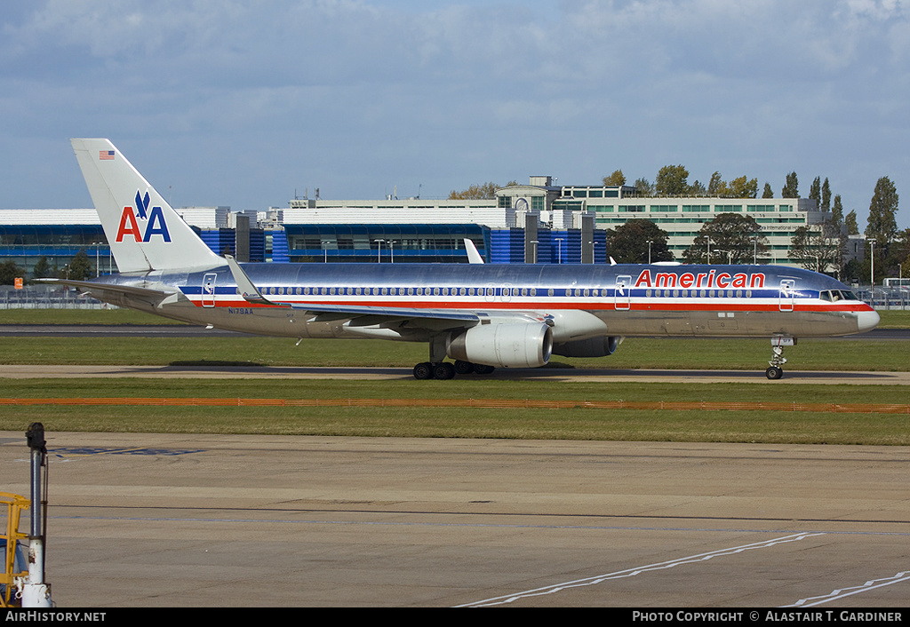
M 502 322 L 452 333 L 446 354 L 486 366 L 537 368 L 550 361 L 553 335 L 542 322 Z

